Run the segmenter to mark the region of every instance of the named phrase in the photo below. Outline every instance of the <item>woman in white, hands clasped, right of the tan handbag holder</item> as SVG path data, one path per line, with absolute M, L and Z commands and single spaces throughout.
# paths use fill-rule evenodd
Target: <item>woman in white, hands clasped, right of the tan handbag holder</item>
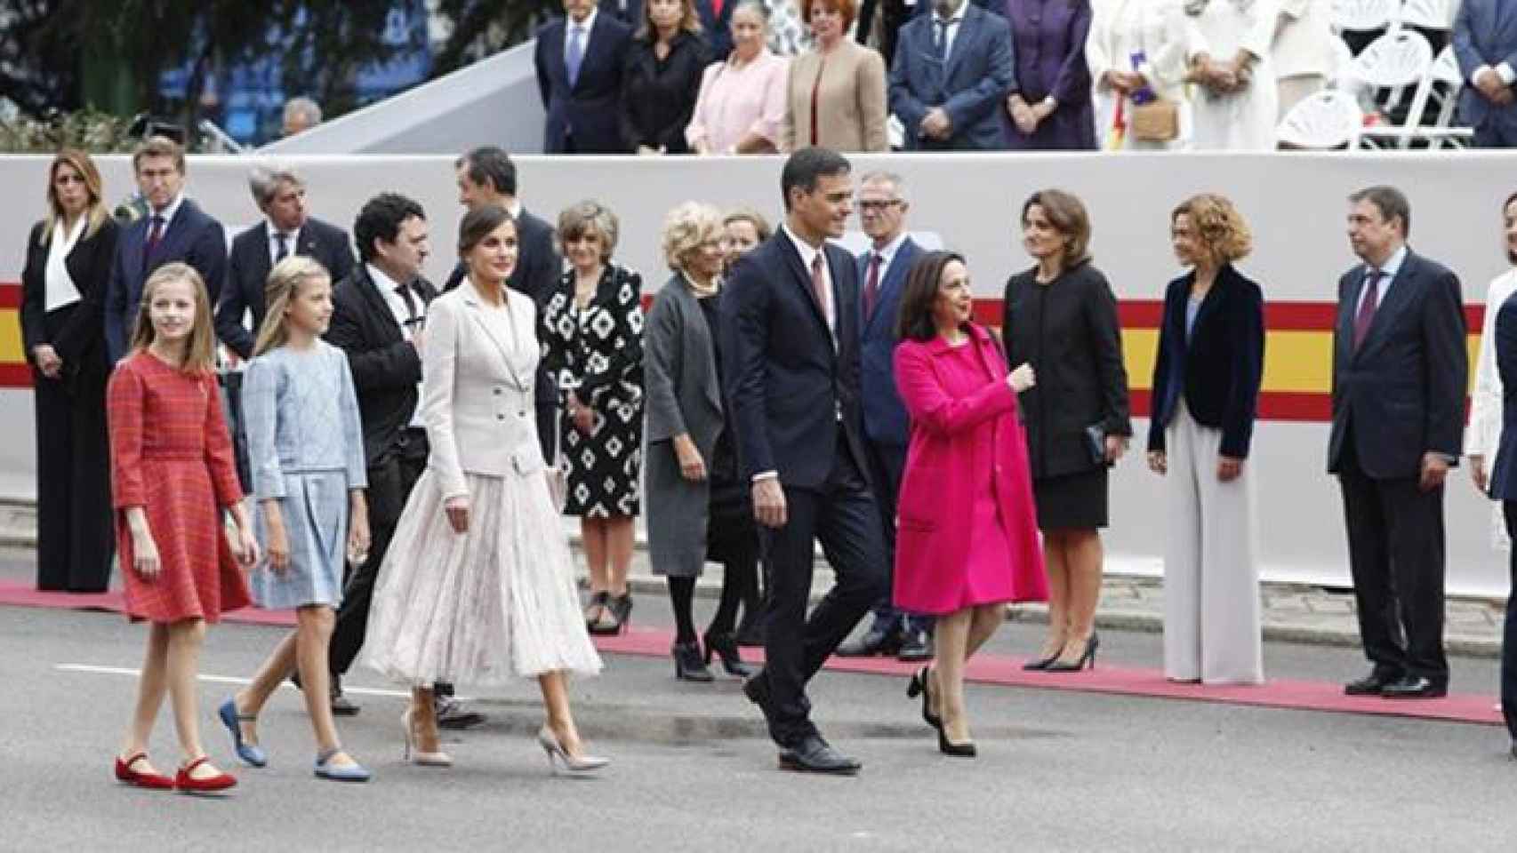
M 1197 152 L 1273 152 L 1279 89 L 1270 44 L 1276 0 L 1185 0 Z

